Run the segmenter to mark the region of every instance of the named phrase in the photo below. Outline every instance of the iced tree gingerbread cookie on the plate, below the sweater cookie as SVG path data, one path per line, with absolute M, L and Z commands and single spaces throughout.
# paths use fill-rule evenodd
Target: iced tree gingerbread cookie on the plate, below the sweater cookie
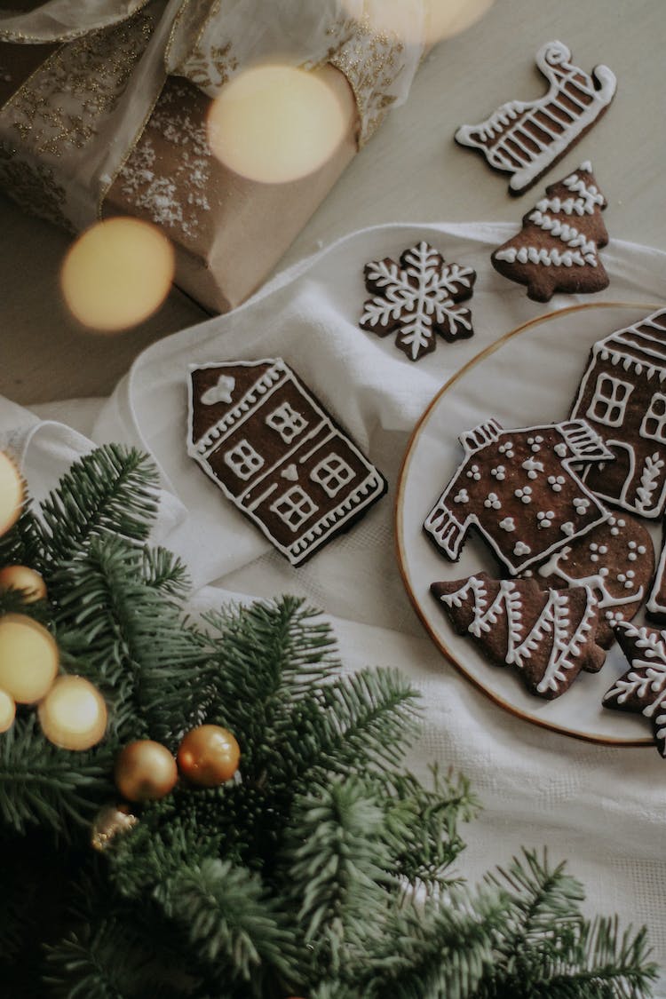
M 469 635 L 498 666 L 515 666 L 528 690 L 559 697 L 581 669 L 596 672 L 605 652 L 596 644 L 598 604 L 587 586 L 542 590 L 534 579 L 433 582 L 458 634 Z

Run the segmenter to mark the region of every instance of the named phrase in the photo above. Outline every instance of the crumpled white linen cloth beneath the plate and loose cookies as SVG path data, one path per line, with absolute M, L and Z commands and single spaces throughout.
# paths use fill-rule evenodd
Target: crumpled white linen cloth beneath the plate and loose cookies
M 508 330 L 574 301 L 666 303 L 666 254 L 619 240 L 601 255 L 610 276 L 606 292 L 556 296 L 546 306 L 530 302 L 524 288 L 495 274 L 489 262 L 490 251 L 515 232 L 504 224 L 428 224 L 352 234 L 279 275 L 235 312 L 149 348 L 109 400 L 42 406 L 33 414 L 2 402 L 0 446 L 11 443 L 21 453 L 37 496 L 91 442 L 126 442 L 150 452 L 165 490 L 156 539 L 190 565 L 197 604 L 239 594 L 303 594 L 332 619 L 350 668 L 401 669 L 422 691 L 425 716 L 423 736 L 406 762 L 421 775 L 434 760 L 464 772 L 483 804 L 461 830 L 467 849 L 459 872 L 474 883 L 521 845 L 547 845 L 550 859 L 568 859 L 584 883 L 589 913 L 617 912 L 625 925 L 649 925 L 664 968 L 657 993 L 666 997 L 666 762 L 652 746 L 578 741 L 492 703 L 426 636 L 396 565 L 393 499 L 401 460 L 420 414 L 454 371 Z M 363 265 L 397 260 L 422 239 L 446 261 L 476 270 L 475 332 L 450 345 L 439 339 L 433 354 L 413 364 L 392 336 L 364 333 L 357 320 L 367 297 Z M 298 569 L 225 500 L 185 449 L 188 365 L 273 357 L 297 370 L 389 484 L 387 498 Z M 40 423 L 43 418 L 52 422 Z

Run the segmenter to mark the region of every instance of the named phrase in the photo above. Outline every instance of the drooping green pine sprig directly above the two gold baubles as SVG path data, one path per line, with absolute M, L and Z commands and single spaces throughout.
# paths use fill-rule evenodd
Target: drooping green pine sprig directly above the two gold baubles
M 155 738 L 173 748 L 198 720 L 206 659 L 178 603 L 155 585 L 159 565 L 167 566 L 162 556 L 151 560 L 130 541 L 98 537 L 53 573 L 51 589 L 63 664 L 100 686 L 116 738 Z M 180 575 L 177 563 L 172 569 L 169 586 Z

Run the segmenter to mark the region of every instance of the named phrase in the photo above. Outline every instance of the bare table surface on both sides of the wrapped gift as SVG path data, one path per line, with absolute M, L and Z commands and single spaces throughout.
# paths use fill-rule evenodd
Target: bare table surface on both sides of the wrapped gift
M 541 96 L 534 53 L 556 38 L 585 71 L 608 65 L 617 95 L 554 171 L 513 199 L 506 179 L 452 136 L 503 101 Z M 542 187 L 584 159 L 608 199 L 611 239 L 666 250 L 665 42 L 664 0 L 496 0 L 480 22 L 430 53 L 407 102 L 355 158 L 278 269 L 379 223 L 485 220 L 515 222 L 518 229 Z M 84 333 L 59 293 L 69 238 L 2 196 L 0 232 L 0 394 L 15 402 L 105 396 L 147 344 L 206 318 L 174 291 L 156 316 L 130 332 Z

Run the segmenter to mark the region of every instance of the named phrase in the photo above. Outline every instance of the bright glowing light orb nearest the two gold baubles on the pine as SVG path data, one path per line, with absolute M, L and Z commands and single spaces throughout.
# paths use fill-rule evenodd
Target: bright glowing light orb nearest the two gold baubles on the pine
M 104 697 L 83 676 L 59 676 L 37 713 L 47 739 L 61 749 L 90 749 L 107 728 Z

